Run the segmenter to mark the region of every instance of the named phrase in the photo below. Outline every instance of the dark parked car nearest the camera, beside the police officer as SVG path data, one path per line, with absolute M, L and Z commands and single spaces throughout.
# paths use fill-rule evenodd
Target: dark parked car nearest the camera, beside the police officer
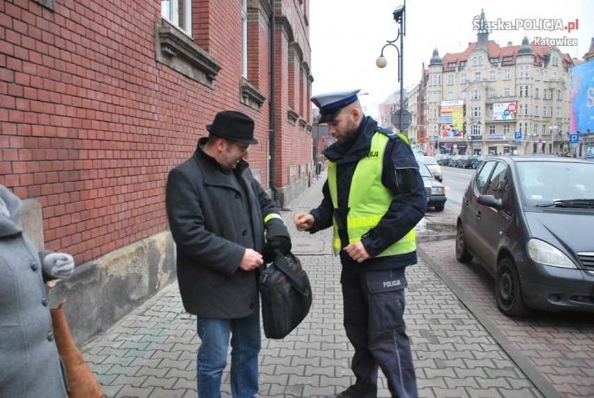
M 593 162 L 489 156 L 462 198 L 456 257 L 494 276 L 505 315 L 594 312 L 593 226 Z

